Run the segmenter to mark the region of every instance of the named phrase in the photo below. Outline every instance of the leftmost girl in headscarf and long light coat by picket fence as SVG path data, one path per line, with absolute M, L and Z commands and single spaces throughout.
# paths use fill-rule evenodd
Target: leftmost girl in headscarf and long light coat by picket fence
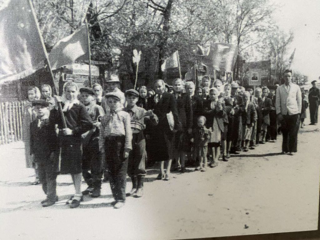
M 30 153 L 30 124 L 36 119 L 36 112 L 33 110 L 32 102 L 40 99 L 39 88 L 32 86 L 28 88 L 28 102 L 24 106 L 24 114 L 22 118 L 22 141 L 25 145 L 25 159 L 27 168 L 34 168 L 36 171 L 36 180 L 32 185 L 39 184 L 38 167 L 33 161 Z

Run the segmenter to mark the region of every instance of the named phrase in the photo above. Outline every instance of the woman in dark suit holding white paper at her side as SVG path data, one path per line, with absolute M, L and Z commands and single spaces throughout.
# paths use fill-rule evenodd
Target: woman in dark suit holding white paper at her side
M 159 123 L 150 126 L 150 157 L 160 163 L 158 179 L 169 180 L 170 168 L 173 157 L 174 132 L 181 131 L 176 100 L 173 94 L 165 92 L 165 83 L 157 79 L 154 85 L 156 95 L 147 104 L 147 110 L 153 110 L 158 116 Z M 164 162 L 167 163 L 164 172 Z

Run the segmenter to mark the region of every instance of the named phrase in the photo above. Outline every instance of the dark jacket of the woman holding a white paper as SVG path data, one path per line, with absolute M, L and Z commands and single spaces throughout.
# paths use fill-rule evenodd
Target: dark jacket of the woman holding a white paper
M 174 99 L 174 96 L 171 93 L 164 92 L 160 101 L 156 104 L 155 102 L 156 95 L 149 99 L 147 104 L 147 110 L 153 110 L 154 114 L 159 119 L 159 124 L 156 126 L 150 126 L 150 133 L 153 130 L 163 131 L 163 132 L 171 132 L 167 114 L 172 112 L 173 119 L 174 119 L 174 129 L 178 131 L 182 131 L 178 110 L 177 110 L 177 103 Z

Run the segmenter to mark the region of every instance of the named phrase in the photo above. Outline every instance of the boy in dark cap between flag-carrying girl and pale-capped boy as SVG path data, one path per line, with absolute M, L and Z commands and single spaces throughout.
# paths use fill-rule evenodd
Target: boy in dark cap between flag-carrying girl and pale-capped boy
M 99 151 L 99 125 L 98 118 L 104 116 L 104 110 L 96 104 L 94 92 L 89 87 L 80 88 L 80 100 L 87 109 L 93 128 L 82 134 L 82 176 L 88 188 L 83 195 L 100 196 L 101 178 L 103 175 L 103 162 Z

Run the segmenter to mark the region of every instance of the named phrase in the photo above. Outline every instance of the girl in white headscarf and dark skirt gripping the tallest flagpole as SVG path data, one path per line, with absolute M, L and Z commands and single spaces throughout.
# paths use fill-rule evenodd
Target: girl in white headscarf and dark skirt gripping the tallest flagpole
M 81 135 L 93 127 L 89 113 L 77 96 L 78 87 L 74 82 L 64 84 L 62 97 L 54 96 L 57 102 L 62 102 L 67 128 L 64 128 L 57 109 L 53 109 L 50 113 L 50 121 L 58 124 L 59 129 L 60 173 L 71 174 L 76 189 L 75 195 L 67 202 L 67 204 L 71 203 L 71 208 L 78 207 L 82 199 Z

